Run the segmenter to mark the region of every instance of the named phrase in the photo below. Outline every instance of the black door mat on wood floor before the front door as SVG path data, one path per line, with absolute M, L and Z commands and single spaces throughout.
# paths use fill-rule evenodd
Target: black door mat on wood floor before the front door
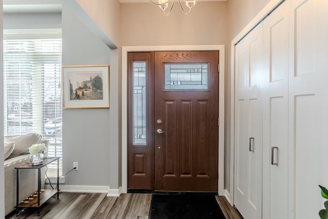
M 213 194 L 153 194 L 149 218 L 226 219 Z

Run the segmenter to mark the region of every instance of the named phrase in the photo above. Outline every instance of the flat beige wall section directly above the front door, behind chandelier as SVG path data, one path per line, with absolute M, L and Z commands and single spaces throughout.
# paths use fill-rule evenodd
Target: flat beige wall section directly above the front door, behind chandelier
M 121 4 L 122 46 L 227 44 L 227 2 L 198 3 L 186 15 L 178 3 L 169 16 L 151 3 Z

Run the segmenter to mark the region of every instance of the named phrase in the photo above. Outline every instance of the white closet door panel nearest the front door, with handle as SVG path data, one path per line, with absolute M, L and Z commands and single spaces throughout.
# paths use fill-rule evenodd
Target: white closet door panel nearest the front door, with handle
M 235 206 L 245 219 L 262 212 L 262 24 L 235 47 Z

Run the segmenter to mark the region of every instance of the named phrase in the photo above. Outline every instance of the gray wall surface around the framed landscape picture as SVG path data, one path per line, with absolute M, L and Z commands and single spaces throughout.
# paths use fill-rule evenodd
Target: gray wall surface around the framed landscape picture
M 63 66 L 110 64 L 110 49 L 65 6 L 62 19 Z M 110 91 L 116 93 L 117 85 L 111 86 Z M 65 185 L 110 185 L 110 166 L 117 165 L 117 156 L 110 155 L 110 147 L 117 148 L 117 140 L 110 134 L 117 127 L 111 123 L 111 113 L 111 109 L 63 110 L 63 173 L 78 162 L 78 171 L 66 176 Z

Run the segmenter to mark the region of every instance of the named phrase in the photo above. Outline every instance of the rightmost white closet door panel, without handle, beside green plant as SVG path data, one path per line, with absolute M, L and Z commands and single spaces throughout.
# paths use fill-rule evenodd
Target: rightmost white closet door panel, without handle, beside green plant
M 327 175 L 327 5 L 326 0 L 293 0 L 289 78 L 289 218 L 318 218 L 319 184 Z M 326 178 L 325 178 L 326 179 Z

